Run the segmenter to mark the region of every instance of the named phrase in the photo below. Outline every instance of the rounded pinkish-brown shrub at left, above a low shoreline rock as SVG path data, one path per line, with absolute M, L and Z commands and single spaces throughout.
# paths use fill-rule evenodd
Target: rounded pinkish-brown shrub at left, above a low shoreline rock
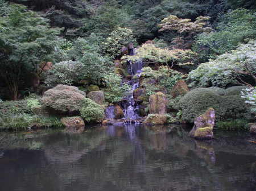
M 57 85 L 44 92 L 42 103 L 59 113 L 76 113 L 84 98 L 85 93 L 75 86 Z

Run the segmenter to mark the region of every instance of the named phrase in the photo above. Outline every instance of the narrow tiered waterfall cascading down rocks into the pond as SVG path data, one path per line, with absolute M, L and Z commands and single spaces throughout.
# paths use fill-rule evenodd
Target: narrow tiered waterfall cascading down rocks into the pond
M 135 55 L 135 49 L 131 48 L 129 49 L 129 55 L 133 56 Z M 141 72 L 142 72 L 142 67 L 143 67 L 143 61 L 142 60 L 137 60 L 135 62 L 129 61 L 129 73 L 131 74 L 131 76 L 141 76 Z M 128 83 L 133 87 L 131 89 L 131 92 L 129 92 L 129 94 L 125 97 L 126 99 L 126 103 L 123 104 L 124 106 L 124 113 L 125 113 L 125 119 L 131 119 L 131 120 L 135 120 L 135 119 L 139 119 L 139 115 L 138 115 L 138 110 L 139 110 L 139 105 L 137 103 L 135 103 L 134 98 L 133 98 L 133 92 L 135 89 L 137 89 L 139 87 L 139 80 L 137 78 L 137 80 L 133 80 L 131 79 L 130 81 L 128 81 Z

